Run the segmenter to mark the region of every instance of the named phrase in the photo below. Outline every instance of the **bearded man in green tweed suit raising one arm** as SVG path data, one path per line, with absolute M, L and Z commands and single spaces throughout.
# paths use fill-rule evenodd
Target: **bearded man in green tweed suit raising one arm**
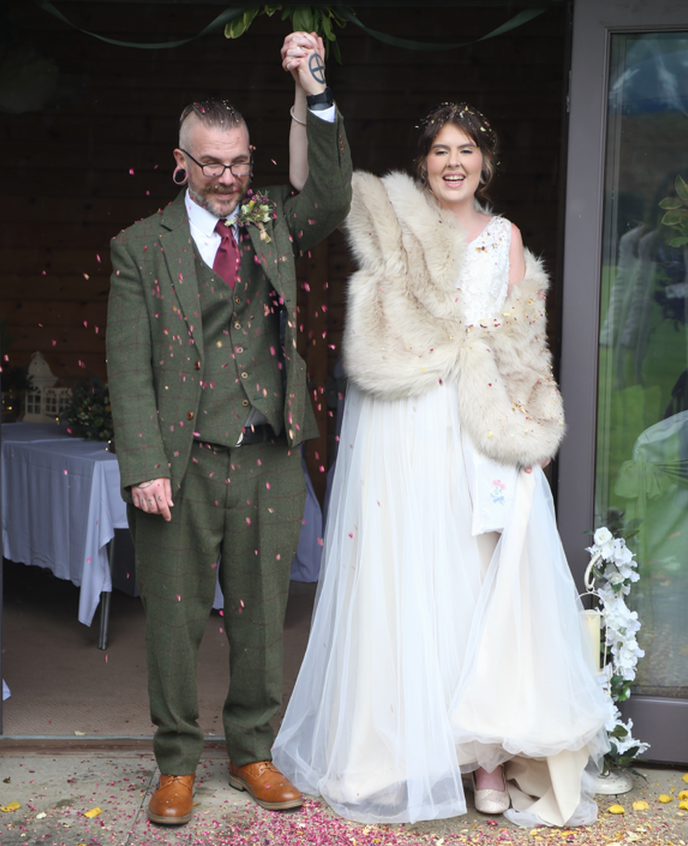
M 203 748 L 196 655 L 218 558 L 229 782 L 270 810 L 302 803 L 272 766 L 269 725 L 282 701 L 283 618 L 305 498 L 298 447 L 317 434 L 296 352 L 294 258 L 345 217 L 351 173 L 318 41 L 289 36 L 309 106 L 311 176 L 300 194 L 252 194 L 243 118 L 225 101 L 194 103 L 174 151 L 173 179 L 188 179 L 187 189 L 112 242 L 108 379 L 146 610 L 161 772 L 148 816 L 159 823 L 192 814 Z

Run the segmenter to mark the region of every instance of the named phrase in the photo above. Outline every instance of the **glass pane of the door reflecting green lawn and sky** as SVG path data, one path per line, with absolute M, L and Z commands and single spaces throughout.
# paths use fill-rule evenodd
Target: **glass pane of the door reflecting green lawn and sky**
M 688 180 L 688 33 L 612 41 L 595 525 L 629 542 L 637 692 L 688 698 L 688 250 L 659 206 Z

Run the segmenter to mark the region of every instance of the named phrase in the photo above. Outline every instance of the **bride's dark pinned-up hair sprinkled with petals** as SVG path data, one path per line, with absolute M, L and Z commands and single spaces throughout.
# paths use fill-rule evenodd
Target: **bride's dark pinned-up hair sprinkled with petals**
M 495 168 L 498 165 L 498 139 L 485 116 L 468 103 L 439 103 L 416 126 L 416 129 L 421 130 L 416 145 L 416 158 L 413 160 L 417 178 L 421 180 L 421 183 L 426 183 L 426 159 L 440 129 L 447 124 L 454 124 L 462 132 L 465 132 L 481 151 L 481 184 L 476 191 L 476 195 L 482 200 L 487 199 L 487 188 L 493 181 Z

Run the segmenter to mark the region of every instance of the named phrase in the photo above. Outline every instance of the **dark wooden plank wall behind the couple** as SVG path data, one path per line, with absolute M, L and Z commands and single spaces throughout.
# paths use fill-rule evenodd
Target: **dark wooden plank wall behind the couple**
M 188 37 L 221 11 L 203 3 L 57 5 L 75 25 L 122 41 Z M 0 61 L 11 51 L 25 60 L 33 50 L 58 69 L 57 87 L 40 110 L 0 113 L 0 315 L 16 338 L 9 363 L 25 365 L 41 350 L 63 379 L 86 371 L 104 378 L 108 240 L 173 198 L 171 151 L 182 107 L 207 95 L 233 100 L 258 148 L 256 184 L 286 181 L 292 101 L 279 63 L 285 25 L 277 16 L 263 17 L 239 41 L 218 32 L 184 47 L 148 51 L 97 41 L 26 0 L 8 0 L 6 8 L 16 30 Z M 419 5 L 390 14 L 389 8 L 361 5 L 359 14 L 371 29 L 399 37 L 471 41 L 517 10 L 513 4 Z M 568 71 L 564 6 L 506 36 L 447 52 L 389 47 L 353 25 L 338 37 L 344 64 L 331 61 L 328 80 L 347 119 L 355 167 L 374 173 L 408 168 L 414 124 L 428 105 L 471 102 L 502 140 L 495 208 L 520 226 L 526 244 L 556 270 Z M 322 381 L 322 358 L 327 356 L 330 375 L 337 360 L 352 269 L 340 233 L 327 239 L 318 261 L 323 289 L 306 294 L 304 288 L 302 348 L 309 360 L 317 356 L 313 370 Z M 313 278 L 307 261 L 301 275 L 304 282 Z M 320 393 L 323 386 L 313 387 Z M 321 415 L 327 417 L 327 410 Z M 331 409 L 327 420 L 328 438 L 318 457 L 325 467 L 327 456 L 320 453 L 332 452 Z

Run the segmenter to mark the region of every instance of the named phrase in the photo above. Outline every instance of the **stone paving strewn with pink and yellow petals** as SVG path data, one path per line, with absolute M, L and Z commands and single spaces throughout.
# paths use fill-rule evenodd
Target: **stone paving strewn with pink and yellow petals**
M 600 816 L 585 828 L 523 829 L 472 807 L 465 816 L 414 825 L 364 826 L 335 816 L 307 799 L 302 809 L 271 813 L 247 794 L 230 788 L 221 745 L 206 746 L 197 771 L 195 815 L 183 827 L 160 827 L 146 818 L 157 782 L 150 741 L 110 744 L 20 742 L 0 739 L 0 844 L 46 846 L 413 846 L 459 843 L 501 846 L 531 843 L 688 844 L 688 810 L 679 794 L 688 790 L 681 768 L 645 766 L 647 781 L 623 796 L 598 796 Z M 471 801 L 471 793 L 467 791 Z M 660 801 L 669 799 L 669 801 Z M 647 802 L 647 808 L 638 803 Z M 636 803 L 636 809 L 634 809 Z M 609 808 L 620 805 L 625 813 Z M 688 807 L 688 805 L 686 805 Z M 616 810 L 619 810 L 618 808 Z

